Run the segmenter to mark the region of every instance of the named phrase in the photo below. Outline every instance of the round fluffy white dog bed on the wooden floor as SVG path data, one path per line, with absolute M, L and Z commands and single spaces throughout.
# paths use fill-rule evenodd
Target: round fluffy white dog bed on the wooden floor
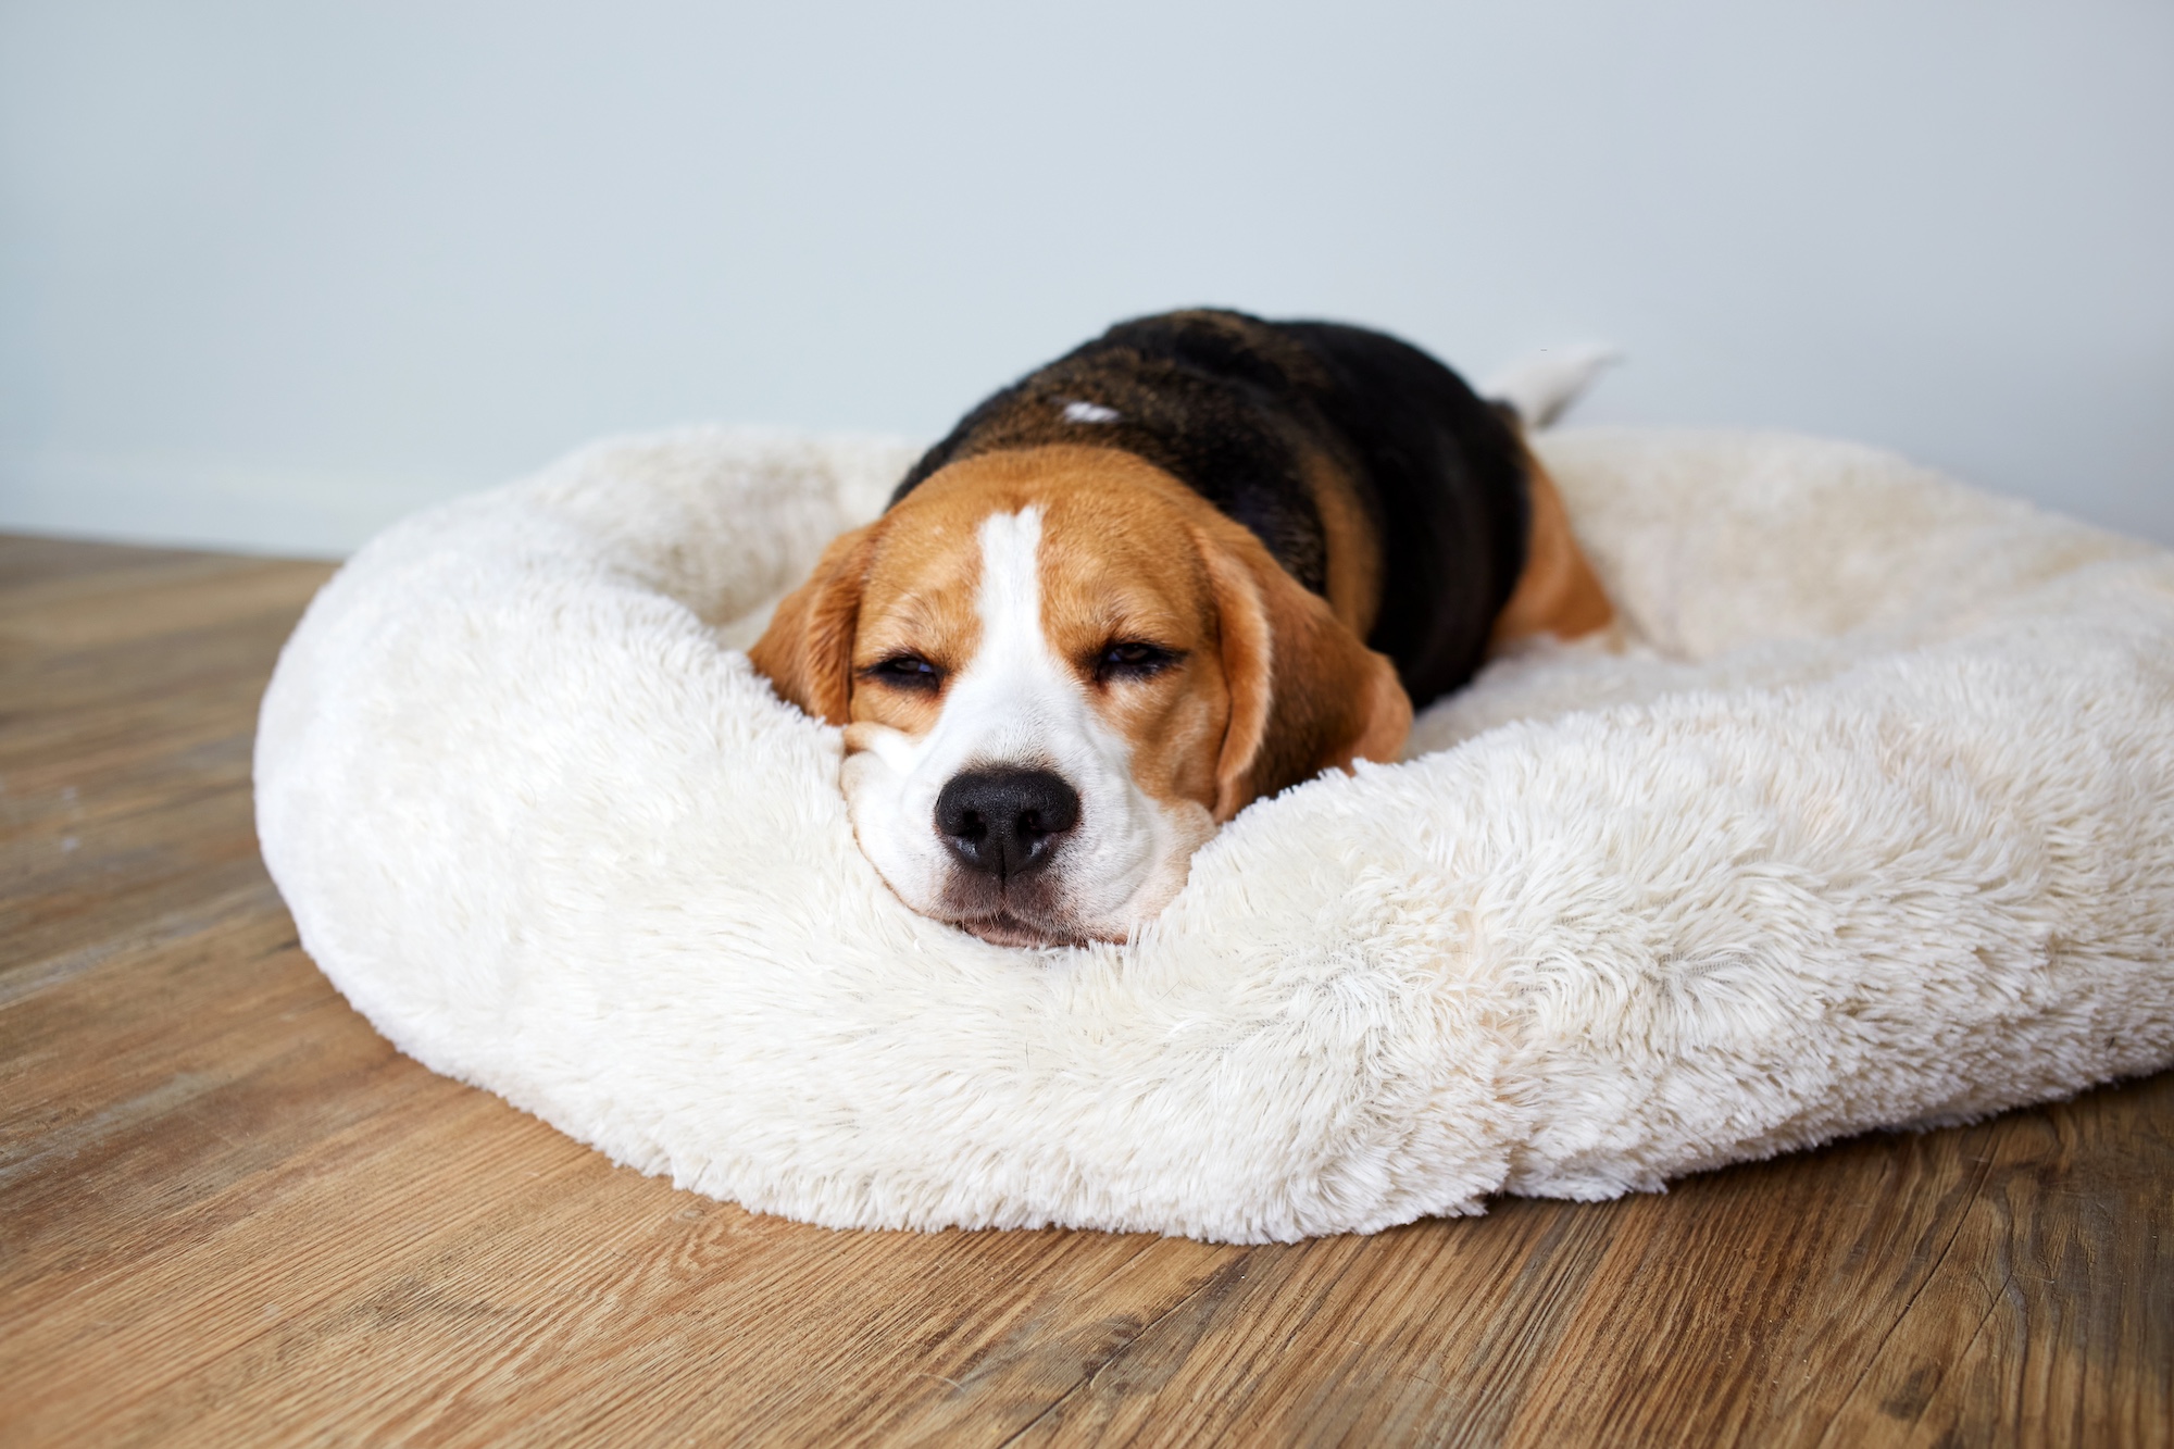
M 2174 555 L 1844 444 L 1541 450 L 1637 646 L 1252 805 L 1126 946 L 907 912 L 733 648 L 878 444 L 607 444 L 378 537 L 265 696 L 265 859 L 417 1060 L 833 1225 L 1370 1231 L 2174 1062 Z

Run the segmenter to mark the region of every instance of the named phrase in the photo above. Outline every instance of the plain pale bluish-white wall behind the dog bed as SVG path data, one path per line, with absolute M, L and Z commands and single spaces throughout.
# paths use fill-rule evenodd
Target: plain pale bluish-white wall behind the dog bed
M 2170 144 L 2163 0 L 4 0 L 0 527 L 346 550 L 1226 302 L 2174 542 Z

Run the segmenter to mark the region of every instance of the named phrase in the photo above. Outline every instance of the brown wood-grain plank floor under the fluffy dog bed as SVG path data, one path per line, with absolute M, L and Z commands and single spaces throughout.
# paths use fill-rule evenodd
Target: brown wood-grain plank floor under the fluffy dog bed
M 2174 1077 L 1270 1249 L 613 1168 L 296 946 L 250 731 L 326 572 L 0 540 L 0 1442 L 2174 1442 Z

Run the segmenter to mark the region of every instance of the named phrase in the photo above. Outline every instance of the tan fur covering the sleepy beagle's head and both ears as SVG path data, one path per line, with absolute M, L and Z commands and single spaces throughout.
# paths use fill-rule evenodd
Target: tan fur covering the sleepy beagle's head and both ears
M 809 714 L 846 725 L 848 751 L 859 722 L 928 729 L 941 692 L 885 688 L 867 670 L 896 653 L 965 668 L 980 631 L 976 527 L 1028 505 L 1044 518 L 1044 633 L 1130 742 L 1150 796 L 1228 820 L 1324 768 L 1398 757 L 1411 703 L 1394 666 L 1241 524 L 1111 448 L 1020 448 L 946 468 L 824 550 L 750 651 L 754 666 Z M 1178 661 L 1096 685 L 1096 659 L 1120 640 Z

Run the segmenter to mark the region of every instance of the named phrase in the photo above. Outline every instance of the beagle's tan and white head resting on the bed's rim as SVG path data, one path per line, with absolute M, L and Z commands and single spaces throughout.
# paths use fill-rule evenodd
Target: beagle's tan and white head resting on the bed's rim
M 1120 450 L 952 463 L 824 553 L 750 651 L 846 727 L 861 849 L 1000 944 L 1122 940 L 1254 796 L 1396 759 L 1394 666 Z

